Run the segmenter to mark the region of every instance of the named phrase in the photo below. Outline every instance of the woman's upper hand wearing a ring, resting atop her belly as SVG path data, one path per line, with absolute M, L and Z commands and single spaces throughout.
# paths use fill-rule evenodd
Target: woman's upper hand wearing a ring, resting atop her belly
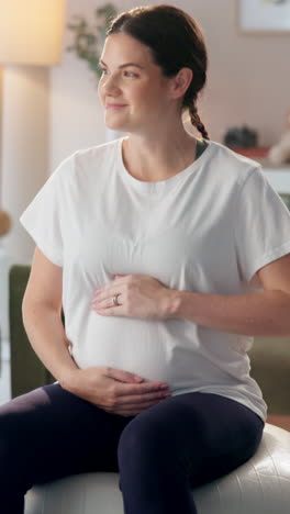
M 150 320 L 175 317 L 177 291 L 146 275 L 115 275 L 115 279 L 97 289 L 91 306 L 103 316 L 129 316 Z M 118 295 L 118 305 L 113 298 Z

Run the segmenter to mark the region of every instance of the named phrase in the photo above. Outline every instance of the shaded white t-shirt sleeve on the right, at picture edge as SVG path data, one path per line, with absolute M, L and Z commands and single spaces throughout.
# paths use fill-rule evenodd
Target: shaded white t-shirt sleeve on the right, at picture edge
M 260 167 L 243 183 L 235 212 L 237 262 L 250 282 L 258 269 L 290 253 L 290 213 Z

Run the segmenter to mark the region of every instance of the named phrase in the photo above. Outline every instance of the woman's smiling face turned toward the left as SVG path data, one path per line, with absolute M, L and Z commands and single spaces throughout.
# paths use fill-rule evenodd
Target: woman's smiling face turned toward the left
M 153 62 L 150 51 L 124 33 L 111 34 L 101 55 L 99 97 L 105 125 L 112 130 L 144 133 L 168 113 L 171 79 Z

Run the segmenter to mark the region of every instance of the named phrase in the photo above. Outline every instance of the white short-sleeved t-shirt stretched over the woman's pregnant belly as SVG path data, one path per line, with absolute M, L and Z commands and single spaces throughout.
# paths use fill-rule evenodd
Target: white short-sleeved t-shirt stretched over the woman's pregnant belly
M 144 182 L 125 169 L 120 138 L 65 159 L 20 221 L 63 267 L 66 335 L 80 368 L 167 381 L 174 395 L 221 394 L 266 418 L 249 376 L 253 337 L 91 309 L 114 275 L 148 275 L 181 291 L 260 291 L 254 273 L 290 253 L 290 214 L 257 163 L 211 141 L 181 172 Z

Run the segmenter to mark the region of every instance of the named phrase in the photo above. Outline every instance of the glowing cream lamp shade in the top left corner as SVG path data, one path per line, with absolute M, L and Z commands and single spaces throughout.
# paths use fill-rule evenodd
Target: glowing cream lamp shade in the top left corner
M 0 64 L 60 60 L 65 0 L 0 0 Z

